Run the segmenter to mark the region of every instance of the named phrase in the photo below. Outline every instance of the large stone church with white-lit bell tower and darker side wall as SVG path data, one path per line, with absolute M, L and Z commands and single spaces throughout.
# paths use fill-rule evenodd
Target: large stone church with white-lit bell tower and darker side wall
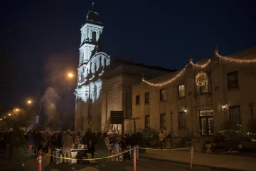
M 99 14 L 88 11 L 80 29 L 78 86 L 75 89 L 75 131 L 103 131 L 111 113 L 122 113 L 122 123 L 112 124 L 116 133 L 132 131 L 132 86 L 171 70 L 117 60 L 102 50 L 103 24 Z

